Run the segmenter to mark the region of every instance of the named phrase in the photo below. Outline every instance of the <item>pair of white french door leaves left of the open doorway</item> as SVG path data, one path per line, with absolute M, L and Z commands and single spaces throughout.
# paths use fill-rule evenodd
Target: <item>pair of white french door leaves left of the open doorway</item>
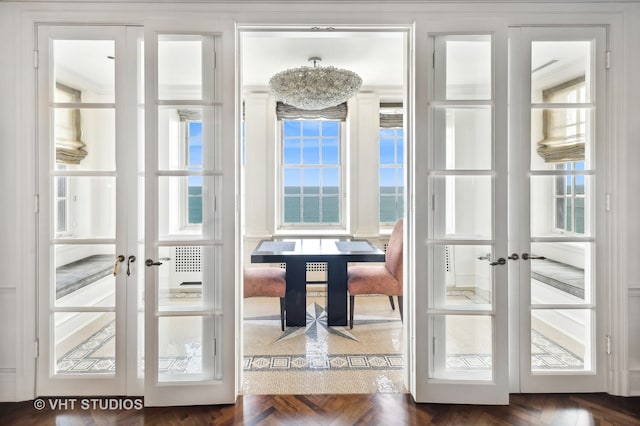
M 38 28 L 38 395 L 235 401 L 233 26 L 197 27 Z

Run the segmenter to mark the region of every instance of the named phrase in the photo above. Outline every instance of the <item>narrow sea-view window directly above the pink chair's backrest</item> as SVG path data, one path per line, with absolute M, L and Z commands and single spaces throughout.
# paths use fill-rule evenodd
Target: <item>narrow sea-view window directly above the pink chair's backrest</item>
M 403 148 L 402 129 L 380 129 L 379 214 L 380 223 L 391 224 L 403 217 Z

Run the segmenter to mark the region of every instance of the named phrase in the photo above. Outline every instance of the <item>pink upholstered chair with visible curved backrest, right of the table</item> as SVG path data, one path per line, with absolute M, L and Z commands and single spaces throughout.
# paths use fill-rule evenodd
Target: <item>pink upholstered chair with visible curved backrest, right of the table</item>
M 387 244 L 384 265 L 354 265 L 347 271 L 349 289 L 349 327 L 353 328 L 355 296 L 360 294 L 384 294 L 389 296 L 391 308 L 393 296 L 398 298 L 402 320 L 402 219 L 396 222 Z

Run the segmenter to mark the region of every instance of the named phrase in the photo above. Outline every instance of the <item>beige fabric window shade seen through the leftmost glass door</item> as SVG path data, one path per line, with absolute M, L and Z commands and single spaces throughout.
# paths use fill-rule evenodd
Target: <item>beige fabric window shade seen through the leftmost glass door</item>
M 80 91 L 56 84 L 58 102 L 80 102 Z M 56 163 L 80 164 L 87 156 L 86 144 L 81 140 L 80 110 L 58 108 L 55 114 Z

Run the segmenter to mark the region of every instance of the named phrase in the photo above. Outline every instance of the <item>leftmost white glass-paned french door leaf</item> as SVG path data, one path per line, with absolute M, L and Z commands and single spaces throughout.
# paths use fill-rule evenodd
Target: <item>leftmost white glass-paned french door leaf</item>
M 140 395 L 141 31 L 38 26 L 37 395 Z

